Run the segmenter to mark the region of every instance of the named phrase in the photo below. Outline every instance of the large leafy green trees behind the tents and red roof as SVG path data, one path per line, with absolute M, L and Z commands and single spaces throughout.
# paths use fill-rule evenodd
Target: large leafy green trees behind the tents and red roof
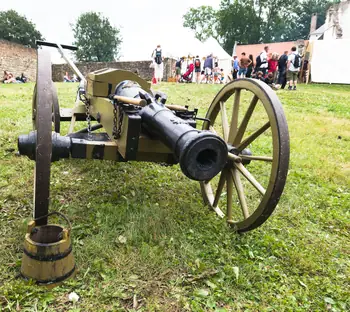
M 240 44 L 307 39 L 313 13 L 318 26 L 325 22 L 329 0 L 222 0 L 216 11 L 210 6 L 190 8 L 183 16 L 184 27 L 199 40 L 216 38 L 231 53 Z

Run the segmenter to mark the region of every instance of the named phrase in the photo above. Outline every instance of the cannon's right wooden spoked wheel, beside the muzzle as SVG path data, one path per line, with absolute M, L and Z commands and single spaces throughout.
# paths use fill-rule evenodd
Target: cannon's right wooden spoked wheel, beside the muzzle
M 282 194 L 289 164 L 288 126 L 282 104 L 265 83 L 226 84 L 209 107 L 203 129 L 228 144 L 224 169 L 201 183 L 203 198 L 238 232 L 260 226 Z M 226 185 L 226 188 L 225 188 Z

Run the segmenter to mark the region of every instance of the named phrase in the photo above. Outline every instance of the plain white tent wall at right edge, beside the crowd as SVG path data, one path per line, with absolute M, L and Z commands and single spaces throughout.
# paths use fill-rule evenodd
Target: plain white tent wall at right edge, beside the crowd
M 336 51 L 336 57 L 331 57 Z M 311 59 L 313 82 L 350 84 L 350 39 L 315 40 Z

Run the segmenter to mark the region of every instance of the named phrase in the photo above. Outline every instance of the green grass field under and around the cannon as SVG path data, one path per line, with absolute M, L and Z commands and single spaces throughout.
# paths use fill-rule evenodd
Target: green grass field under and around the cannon
M 274 214 L 242 235 L 204 206 L 178 165 L 54 163 L 51 210 L 73 223 L 78 272 L 52 290 L 19 277 L 34 163 L 15 153 L 31 130 L 33 87 L 0 85 L 1 311 L 350 310 L 349 86 L 277 92 L 290 131 L 288 180 Z M 57 87 L 71 107 L 77 86 Z M 201 116 L 220 88 L 157 87 Z

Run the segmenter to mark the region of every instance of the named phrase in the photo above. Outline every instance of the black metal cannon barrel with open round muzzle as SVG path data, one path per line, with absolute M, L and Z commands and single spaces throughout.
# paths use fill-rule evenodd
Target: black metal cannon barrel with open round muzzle
M 193 128 L 186 120 L 158 103 L 153 95 L 145 93 L 137 84 L 121 82 L 116 95 L 147 98 L 149 105 L 140 109 L 142 127 L 168 146 L 180 163 L 181 170 L 190 179 L 206 181 L 216 176 L 227 161 L 227 145 L 210 131 Z

